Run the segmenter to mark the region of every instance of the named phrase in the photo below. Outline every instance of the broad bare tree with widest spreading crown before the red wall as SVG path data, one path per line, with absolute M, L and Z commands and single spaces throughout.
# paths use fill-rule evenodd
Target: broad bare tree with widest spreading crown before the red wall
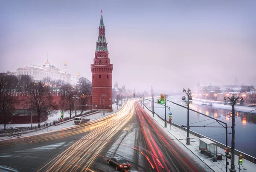
M 49 87 L 44 86 L 43 82 L 30 82 L 27 86 L 25 107 L 36 113 L 38 116 L 38 128 L 40 128 L 40 118 L 43 115 L 53 116 L 57 113 L 58 105 L 53 102 L 53 97 L 49 93 Z

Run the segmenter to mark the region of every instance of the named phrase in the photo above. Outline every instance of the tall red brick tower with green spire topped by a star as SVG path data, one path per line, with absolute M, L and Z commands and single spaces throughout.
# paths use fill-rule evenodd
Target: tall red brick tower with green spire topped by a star
M 103 110 L 105 105 L 106 112 L 112 111 L 112 70 L 113 65 L 108 58 L 108 42 L 105 37 L 105 26 L 101 15 L 99 37 L 96 42 L 93 64 L 91 64 L 92 109 Z

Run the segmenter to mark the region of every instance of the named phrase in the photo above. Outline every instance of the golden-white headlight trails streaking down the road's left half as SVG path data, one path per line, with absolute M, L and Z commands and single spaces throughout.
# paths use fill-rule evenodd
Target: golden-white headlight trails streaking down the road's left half
M 76 133 L 91 131 L 81 139 L 74 142 L 38 171 L 46 172 L 86 172 L 99 157 L 104 147 L 111 141 L 116 133 L 128 123 L 135 113 L 134 102 L 127 102 L 122 109 L 107 118 L 93 121 Z M 81 131 L 80 131 L 81 130 Z M 72 132 L 74 133 L 74 132 Z M 71 133 L 70 133 L 71 134 Z M 60 163 L 62 162 L 62 163 Z

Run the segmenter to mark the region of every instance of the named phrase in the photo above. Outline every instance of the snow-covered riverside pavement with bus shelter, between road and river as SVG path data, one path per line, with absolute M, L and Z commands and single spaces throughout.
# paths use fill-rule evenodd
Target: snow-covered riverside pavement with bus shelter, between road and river
M 175 127 L 172 125 L 172 131 L 170 130 L 170 124 L 167 123 L 167 127 L 164 127 L 164 121 L 160 119 L 157 115 L 152 116 L 152 112 L 149 111 L 148 109 L 145 108 L 145 111 L 148 113 L 148 115 L 154 119 L 156 124 L 158 124 L 160 127 L 163 128 L 164 132 L 166 135 L 168 135 L 175 143 L 184 150 L 184 152 L 187 152 L 188 155 L 192 156 L 195 155 L 199 159 L 201 159 L 201 163 L 207 164 L 212 170 L 215 172 L 225 172 L 226 171 L 226 158 L 222 157 L 222 161 L 217 160 L 217 162 L 213 162 L 212 158 L 208 158 L 206 155 L 202 154 L 201 151 L 199 150 L 199 137 L 195 135 L 189 135 L 190 137 L 190 144 L 186 144 L 186 135 L 187 132 L 184 130 L 181 130 L 178 127 Z M 181 146 L 181 144 L 183 144 Z M 185 149 L 184 146 L 187 148 Z M 218 152 L 224 155 L 225 150 L 218 148 Z M 236 170 L 239 171 L 239 166 L 238 164 L 238 159 L 239 157 L 235 155 L 235 165 L 236 165 Z M 230 168 L 231 160 L 228 159 L 229 166 L 228 169 Z M 241 166 L 241 172 L 255 172 L 256 169 L 256 164 L 253 164 L 250 161 L 247 161 L 243 159 L 243 165 Z M 229 171 L 229 170 L 228 170 Z

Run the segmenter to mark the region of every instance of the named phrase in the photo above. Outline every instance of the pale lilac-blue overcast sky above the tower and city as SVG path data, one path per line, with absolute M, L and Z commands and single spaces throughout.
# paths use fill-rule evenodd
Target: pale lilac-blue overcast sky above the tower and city
M 255 0 L 1 0 L 0 72 L 48 56 L 91 80 L 101 10 L 112 86 L 256 85 Z

